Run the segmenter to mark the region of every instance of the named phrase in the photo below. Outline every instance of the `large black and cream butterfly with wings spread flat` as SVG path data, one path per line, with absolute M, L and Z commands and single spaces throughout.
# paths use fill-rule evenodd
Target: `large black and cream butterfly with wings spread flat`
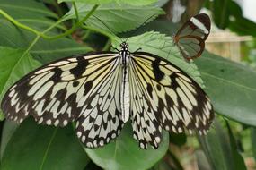
M 2 109 L 18 123 L 66 126 L 88 148 L 118 137 L 131 120 L 139 147 L 158 148 L 163 129 L 205 134 L 214 118 L 207 94 L 187 73 L 149 53 L 119 52 L 67 57 L 27 74 L 6 92 Z

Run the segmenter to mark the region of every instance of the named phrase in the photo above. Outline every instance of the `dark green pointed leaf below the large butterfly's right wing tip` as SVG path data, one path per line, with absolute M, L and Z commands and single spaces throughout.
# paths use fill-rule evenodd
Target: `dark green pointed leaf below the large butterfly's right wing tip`
M 225 132 L 217 120 L 213 127 L 207 136 L 199 136 L 201 147 L 211 168 L 213 170 L 245 170 L 243 157 L 237 151 L 233 137 Z

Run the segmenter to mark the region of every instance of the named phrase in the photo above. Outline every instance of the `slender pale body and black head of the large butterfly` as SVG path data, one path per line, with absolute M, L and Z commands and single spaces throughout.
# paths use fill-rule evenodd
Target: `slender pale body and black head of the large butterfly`
M 121 113 L 122 113 L 122 121 L 127 122 L 129 118 L 129 72 L 128 72 L 128 64 L 130 53 L 128 51 L 128 44 L 123 42 L 120 44 L 121 50 L 119 51 L 120 64 L 121 64 L 121 87 L 120 87 L 120 104 L 121 104 Z

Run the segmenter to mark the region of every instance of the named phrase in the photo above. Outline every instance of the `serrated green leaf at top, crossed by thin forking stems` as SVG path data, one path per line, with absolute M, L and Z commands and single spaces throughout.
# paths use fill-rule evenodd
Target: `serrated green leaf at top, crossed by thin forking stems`
M 77 4 L 79 17 L 84 17 L 92 7 L 93 5 Z M 136 7 L 128 4 L 111 3 L 99 6 L 93 16 L 85 23 L 97 29 L 118 33 L 136 29 L 141 24 L 154 20 L 159 14 L 163 14 L 163 10 L 160 7 Z M 65 20 L 75 18 L 74 7 L 66 13 L 64 18 Z

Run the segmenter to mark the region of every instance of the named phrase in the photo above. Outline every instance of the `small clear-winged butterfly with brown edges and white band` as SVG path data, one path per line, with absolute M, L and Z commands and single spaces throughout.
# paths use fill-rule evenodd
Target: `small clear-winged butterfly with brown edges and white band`
M 199 57 L 205 49 L 205 41 L 210 33 L 210 18 L 199 13 L 182 25 L 173 37 L 173 42 L 186 60 Z

